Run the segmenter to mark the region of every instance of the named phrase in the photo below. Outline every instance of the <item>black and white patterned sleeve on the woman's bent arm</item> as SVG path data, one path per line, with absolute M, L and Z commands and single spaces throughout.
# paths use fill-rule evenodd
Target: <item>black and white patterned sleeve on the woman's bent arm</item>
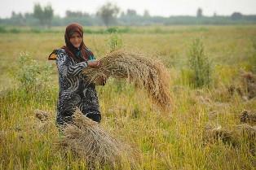
M 78 76 L 83 68 L 88 67 L 86 62 L 74 63 L 64 50 L 59 50 L 56 58 L 58 71 L 63 76 Z

